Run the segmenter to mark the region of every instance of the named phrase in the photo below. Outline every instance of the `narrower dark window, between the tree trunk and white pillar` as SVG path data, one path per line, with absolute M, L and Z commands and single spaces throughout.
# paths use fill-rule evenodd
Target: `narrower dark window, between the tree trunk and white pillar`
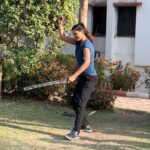
M 106 35 L 106 7 L 93 7 L 93 35 Z

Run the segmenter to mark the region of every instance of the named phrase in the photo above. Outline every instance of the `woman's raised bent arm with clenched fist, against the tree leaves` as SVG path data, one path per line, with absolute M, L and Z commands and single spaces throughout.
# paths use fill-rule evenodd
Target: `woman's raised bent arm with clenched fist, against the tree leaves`
M 64 17 L 61 16 L 58 18 L 58 29 L 59 29 L 59 35 L 61 39 L 67 43 L 76 44 L 76 40 L 74 38 L 65 36 L 63 21 L 64 21 Z

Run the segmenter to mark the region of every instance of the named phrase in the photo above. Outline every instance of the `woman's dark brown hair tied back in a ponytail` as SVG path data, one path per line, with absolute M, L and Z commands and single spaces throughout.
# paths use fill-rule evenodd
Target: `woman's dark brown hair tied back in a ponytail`
M 85 36 L 92 42 L 94 43 L 94 37 L 93 35 L 86 29 L 85 25 L 83 23 L 78 23 L 73 26 L 72 31 L 83 31 Z

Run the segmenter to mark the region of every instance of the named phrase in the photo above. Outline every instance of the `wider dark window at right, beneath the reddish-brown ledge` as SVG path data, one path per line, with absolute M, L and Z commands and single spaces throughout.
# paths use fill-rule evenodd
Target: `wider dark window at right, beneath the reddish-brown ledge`
M 118 36 L 135 37 L 136 7 L 118 7 Z

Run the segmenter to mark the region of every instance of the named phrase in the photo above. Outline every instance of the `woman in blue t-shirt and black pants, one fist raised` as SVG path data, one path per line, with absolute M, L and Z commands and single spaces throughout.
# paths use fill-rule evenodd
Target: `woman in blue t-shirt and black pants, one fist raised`
M 92 132 L 92 128 L 85 116 L 85 108 L 98 80 L 97 73 L 94 68 L 93 36 L 87 31 L 82 23 L 73 26 L 73 38 L 65 36 L 63 22 L 64 17 L 59 17 L 58 26 L 60 37 L 63 41 L 76 46 L 75 55 L 78 63 L 77 71 L 68 78 L 69 83 L 78 79 L 72 100 L 76 114 L 75 124 L 71 132 L 65 136 L 67 139 L 73 140 L 80 139 L 79 133 L 81 128 L 87 132 Z

